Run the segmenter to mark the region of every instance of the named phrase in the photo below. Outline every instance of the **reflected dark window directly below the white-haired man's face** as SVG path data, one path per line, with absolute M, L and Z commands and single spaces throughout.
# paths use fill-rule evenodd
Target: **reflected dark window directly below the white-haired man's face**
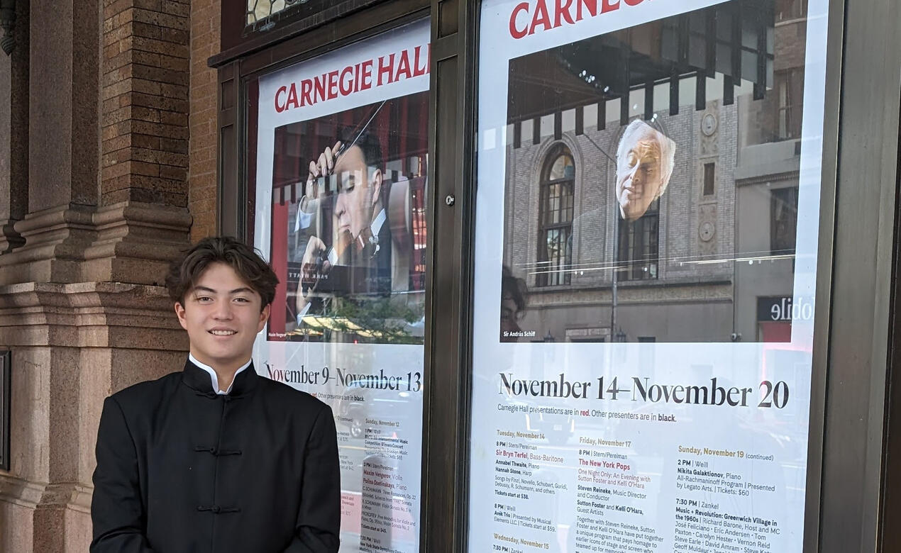
M 651 202 L 641 217 L 628 222 L 619 221 L 619 240 L 616 259 L 620 262 L 618 280 L 648 280 L 657 278 L 659 256 L 660 199 Z M 623 267 L 624 264 L 624 267 Z

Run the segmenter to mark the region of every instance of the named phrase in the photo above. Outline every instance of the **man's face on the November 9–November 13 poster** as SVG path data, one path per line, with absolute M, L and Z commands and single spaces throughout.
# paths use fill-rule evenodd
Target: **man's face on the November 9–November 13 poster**
M 381 171 L 369 176 L 363 150 L 352 146 L 335 163 L 334 175 L 338 177 L 338 198 L 335 201 L 337 231 L 350 232 L 357 238 L 372 223 L 372 211 L 378 202 Z

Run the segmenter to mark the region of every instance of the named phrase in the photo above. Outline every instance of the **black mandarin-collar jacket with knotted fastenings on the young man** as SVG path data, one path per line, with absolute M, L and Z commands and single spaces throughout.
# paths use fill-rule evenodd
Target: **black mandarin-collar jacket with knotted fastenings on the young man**
M 332 411 L 252 364 L 230 394 L 188 361 L 106 398 L 96 458 L 92 553 L 338 550 Z

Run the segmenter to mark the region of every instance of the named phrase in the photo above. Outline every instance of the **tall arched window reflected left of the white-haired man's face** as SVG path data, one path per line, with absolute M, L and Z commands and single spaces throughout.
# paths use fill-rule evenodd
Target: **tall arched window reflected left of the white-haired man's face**
M 551 150 L 542 171 L 537 286 L 569 284 L 575 182 L 572 152 L 559 144 Z

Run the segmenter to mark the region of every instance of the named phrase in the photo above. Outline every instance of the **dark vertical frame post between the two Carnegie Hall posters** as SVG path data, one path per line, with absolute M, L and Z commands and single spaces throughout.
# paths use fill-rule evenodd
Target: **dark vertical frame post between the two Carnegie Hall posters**
M 432 44 L 449 46 L 432 57 L 421 551 L 467 544 L 477 16 L 478 2 L 432 2 Z

